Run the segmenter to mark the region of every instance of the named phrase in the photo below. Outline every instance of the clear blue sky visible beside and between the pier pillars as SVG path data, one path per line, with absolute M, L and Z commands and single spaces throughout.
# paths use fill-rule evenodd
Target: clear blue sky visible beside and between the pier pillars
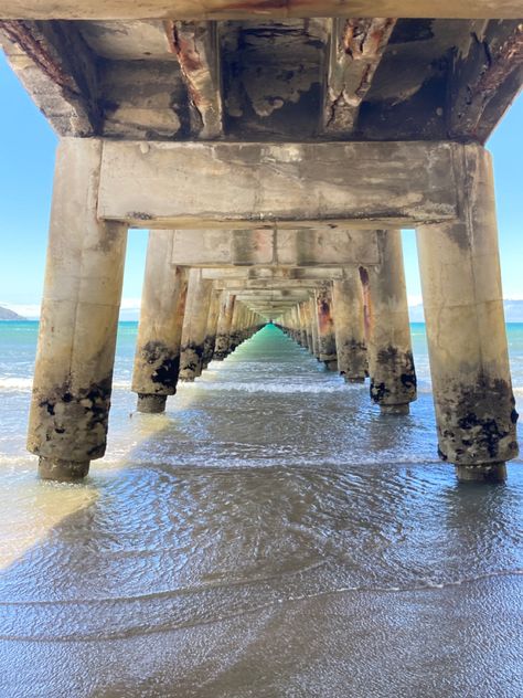
M 38 315 L 42 294 L 56 136 L 0 52 L 0 305 Z M 494 157 L 501 268 L 505 298 L 523 298 L 523 95 L 488 142 Z M 146 231 L 129 231 L 124 303 L 139 303 Z M 413 231 L 404 232 L 407 292 L 420 302 Z

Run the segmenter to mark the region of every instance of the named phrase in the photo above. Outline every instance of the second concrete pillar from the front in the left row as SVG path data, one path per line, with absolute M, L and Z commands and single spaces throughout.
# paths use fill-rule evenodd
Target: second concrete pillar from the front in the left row
M 163 412 L 177 392 L 188 272 L 173 267 L 173 231 L 151 231 L 132 373 L 139 412 Z

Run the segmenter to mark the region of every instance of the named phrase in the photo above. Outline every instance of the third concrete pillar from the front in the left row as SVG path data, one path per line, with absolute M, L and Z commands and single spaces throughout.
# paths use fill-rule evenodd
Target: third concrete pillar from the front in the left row
M 202 373 L 212 287 L 212 281 L 202 278 L 202 269 L 189 269 L 180 351 L 180 379 L 184 381 L 193 381 Z

